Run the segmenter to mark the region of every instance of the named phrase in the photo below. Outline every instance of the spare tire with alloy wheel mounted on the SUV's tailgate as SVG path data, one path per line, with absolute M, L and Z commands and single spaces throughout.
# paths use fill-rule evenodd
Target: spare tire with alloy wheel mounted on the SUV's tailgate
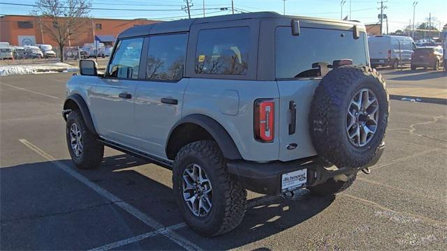
M 389 97 L 376 70 L 342 66 L 315 90 L 309 130 L 318 155 L 337 167 L 362 167 L 374 158 L 388 125 Z

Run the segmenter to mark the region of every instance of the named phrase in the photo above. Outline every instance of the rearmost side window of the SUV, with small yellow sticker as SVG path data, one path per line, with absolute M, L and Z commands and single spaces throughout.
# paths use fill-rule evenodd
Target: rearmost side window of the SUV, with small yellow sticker
M 199 31 L 196 73 L 246 75 L 249 62 L 249 27 Z

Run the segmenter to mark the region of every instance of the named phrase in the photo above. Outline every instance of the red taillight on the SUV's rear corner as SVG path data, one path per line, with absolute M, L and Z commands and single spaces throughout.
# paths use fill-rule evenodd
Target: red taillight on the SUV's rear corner
M 274 100 L 262 99 L 254 102 L 254 137 L 260 142 L 273 142 Z

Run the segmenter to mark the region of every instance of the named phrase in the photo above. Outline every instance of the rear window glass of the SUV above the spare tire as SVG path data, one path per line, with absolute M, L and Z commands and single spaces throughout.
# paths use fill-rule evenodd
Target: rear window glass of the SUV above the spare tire
M 354 65 L 367 66 L 366 35 L 354 39 L 351 31 L 301 28 L 292 36 L 291 27 L 277 27 L 275 32 L 275 68 L 277 79 L 319 77 L 314 63 L 351 59 Z

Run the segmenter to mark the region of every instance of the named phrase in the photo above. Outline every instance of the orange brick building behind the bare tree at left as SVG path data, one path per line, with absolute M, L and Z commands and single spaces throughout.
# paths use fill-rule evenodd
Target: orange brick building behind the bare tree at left
M 45 20 L 44 20 L 45 22 Z M 48 20 L 48 22 L 51 22 Z M 136 20 L 112 20 L 95 18 L 86 22 L 80 33 L 70 37 L 66 46 L 82 46 L 85 43 L 94 43 L 94 39 L 112 45 L 118 34 L 135 25 L 152 24 L 158 21 Z M 8 42 L 10 45 L 46 44 L 57 46 L 49 34 L 45 34 L 35 17 L 28 15 L 3 15 L 0 17 L 0 42 Z

